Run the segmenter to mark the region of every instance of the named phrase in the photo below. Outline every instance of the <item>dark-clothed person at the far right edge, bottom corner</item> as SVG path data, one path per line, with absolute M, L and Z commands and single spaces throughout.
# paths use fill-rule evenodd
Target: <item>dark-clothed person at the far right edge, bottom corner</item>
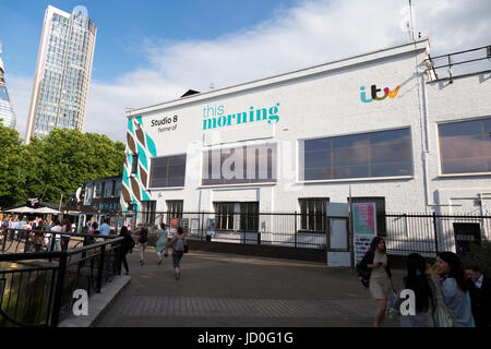
M 464 267 L 469 286 L 470 304 L 476 327 L 491 326 L 491 278 L 482 274 L 481 268 L 474 263 Z

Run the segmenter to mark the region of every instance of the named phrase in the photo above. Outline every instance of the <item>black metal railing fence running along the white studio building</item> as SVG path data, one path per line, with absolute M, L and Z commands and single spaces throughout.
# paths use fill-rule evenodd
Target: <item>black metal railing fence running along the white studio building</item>
M 143 216 L 143 215 L 142 215 Z M 142 217 L 140 216 L 140 217 Z M 190 239 L 209 242 L 326 249 L 328 217 L 322 213 L 154 213 L 143 216 L 151 228 L 175 222 Z M 211 221 L 211 220 L 214 221 Z M 385 214 L 378 233 L 391 254 L 465 252 L 471 242 L 490 238 L 491 215 Z M 214 227 L 209 225 L 214 222 Z

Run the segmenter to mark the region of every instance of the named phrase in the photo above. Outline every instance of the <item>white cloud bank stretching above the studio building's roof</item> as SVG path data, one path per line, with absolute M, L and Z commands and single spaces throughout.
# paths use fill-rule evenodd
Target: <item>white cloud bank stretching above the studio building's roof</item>
M 416 29 L 430 37 L 432 53 L 490 44 L 489 0 L 412 2 Z M 188 88 L 207 91 L 209 83 L 221 88 L 405 43 L 407 5 L 407 0 L 303 1 L 254 27 L 213 40 L 148 39 L 142 51 L 149 67 L 115 83 L 93 80 L 85 131 L 124 142 L 125 107 L 175 99 Z M 26 109 L 21 106 L 21 85 L 11 85 L 12 95 L 20 94 L 16 110 Z

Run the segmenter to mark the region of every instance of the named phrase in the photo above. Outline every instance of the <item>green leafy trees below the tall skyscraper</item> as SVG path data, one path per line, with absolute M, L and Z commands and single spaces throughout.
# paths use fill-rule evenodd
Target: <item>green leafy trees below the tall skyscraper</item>
M 27 198 L 59 202 L 82 182 L 122 176 L 124 144 L 79 130 L 53 130 L 22 144 L 19 133 L 0 124 L 0 207 Z

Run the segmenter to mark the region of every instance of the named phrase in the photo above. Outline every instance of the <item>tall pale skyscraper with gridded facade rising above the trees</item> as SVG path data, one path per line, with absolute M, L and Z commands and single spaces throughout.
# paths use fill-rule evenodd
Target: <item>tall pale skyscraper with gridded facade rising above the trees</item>
M 25 142 L 51 130 L 83 130 L 97 28 L 86 9 L 48 7 L 43 25 Z

